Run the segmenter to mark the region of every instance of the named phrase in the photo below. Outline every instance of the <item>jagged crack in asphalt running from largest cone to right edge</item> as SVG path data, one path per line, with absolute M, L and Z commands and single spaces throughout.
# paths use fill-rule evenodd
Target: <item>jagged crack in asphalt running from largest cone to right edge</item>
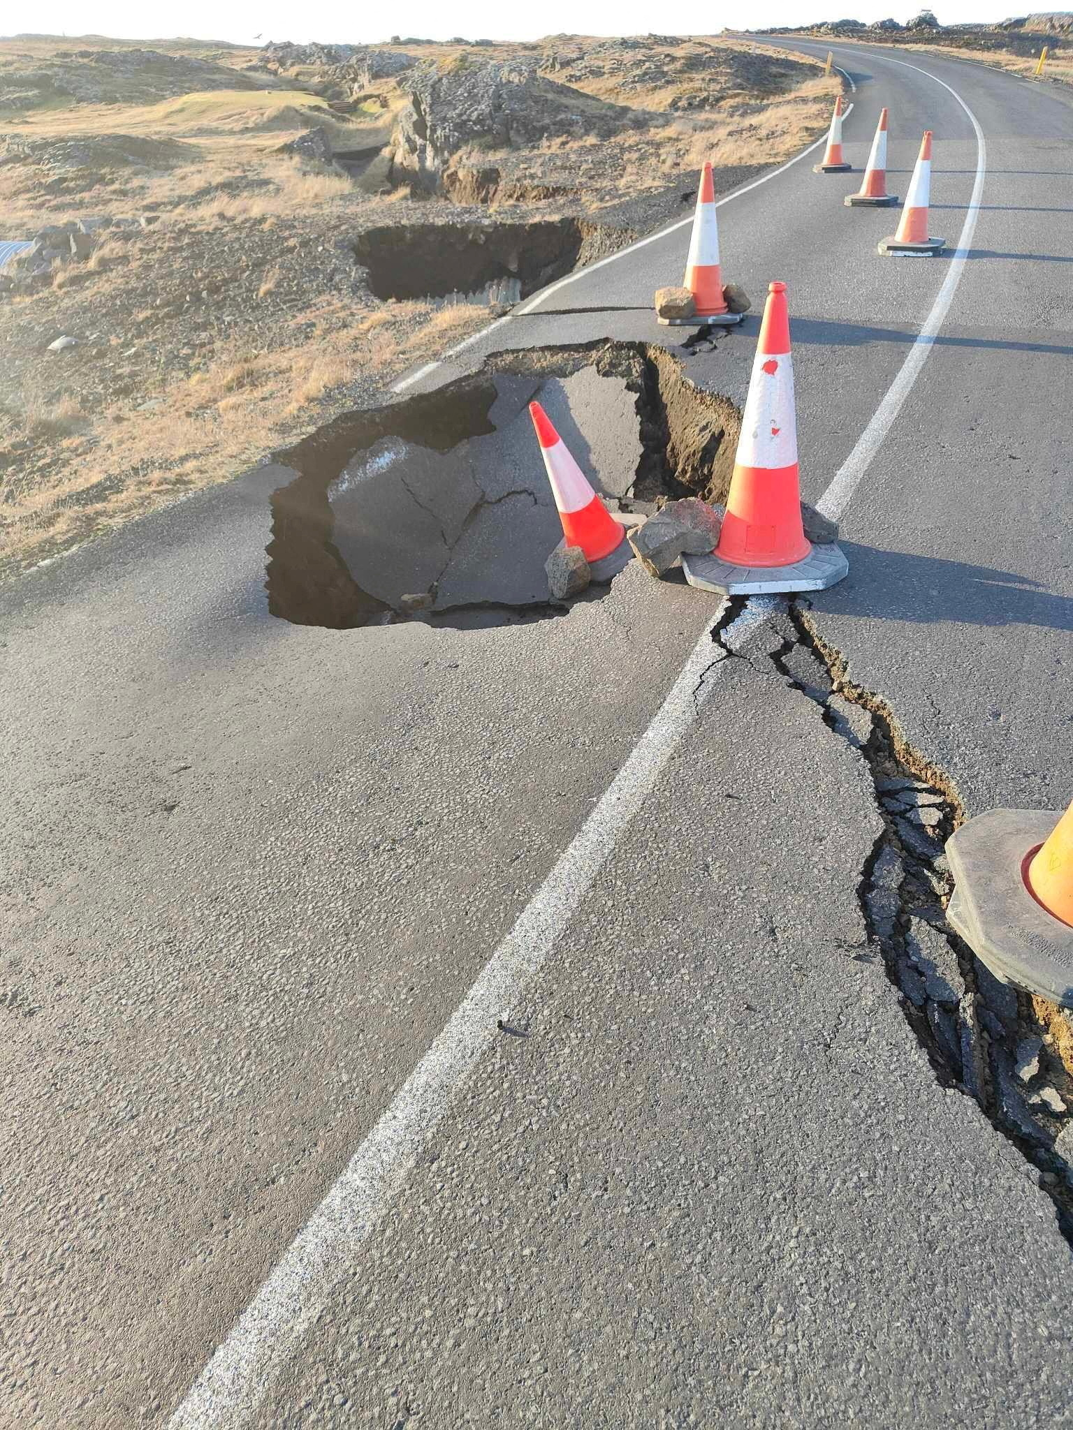
M 883 960 L 937 1083 L 973 1097 L 1037 1168 L 1073 1246 L 1073 1017 L 1001 984 L 950 927 L 944 844 L 966 819 L 951 779 L 908 744 L 878 695 L 850 681 L 805 601 L 761 599 L 767 642 L 730 644 L 748 608 L 733 601 L 712 629 L 717 664 L 743 659 L 760 672 L 767 662 L 808 696 L 860 758 L 883 821 L 858 884 L 868 941 L 848 957 Z

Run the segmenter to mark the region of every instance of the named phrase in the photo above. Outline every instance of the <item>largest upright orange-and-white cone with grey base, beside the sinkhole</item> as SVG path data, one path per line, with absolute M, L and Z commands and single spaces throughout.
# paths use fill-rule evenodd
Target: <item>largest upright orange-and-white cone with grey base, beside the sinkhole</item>
M 718 545 L 684 555 L 682 569 L 691 586 L 731 596 L 821 591 L 850 569 L 837 545 L 813 545 L 801 523 L 785 283 L 768 290 Z

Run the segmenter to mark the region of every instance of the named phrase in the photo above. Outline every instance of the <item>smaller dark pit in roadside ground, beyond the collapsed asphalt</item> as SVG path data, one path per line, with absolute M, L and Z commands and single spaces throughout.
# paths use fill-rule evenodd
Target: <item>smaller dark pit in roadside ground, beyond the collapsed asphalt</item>
M 355 240 L 355 256 L 375 297 L 458 295 L 511 303 L 632 237 L 581 219 L 405 223 L 368 229 Z

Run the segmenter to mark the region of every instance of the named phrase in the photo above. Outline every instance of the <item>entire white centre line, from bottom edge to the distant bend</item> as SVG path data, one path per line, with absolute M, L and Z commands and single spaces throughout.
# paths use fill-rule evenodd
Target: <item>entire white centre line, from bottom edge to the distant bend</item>
M 914 64 L 907 67 L 917 69 Z M 927 70 L 920 73 L 927 74 Z M 934 76 L 929 74 L 929 79 Z M 943 80 L 937 83 L 943 84 Z M 943 87 L 950 89 L 949 84 Z M 973 203 L 979 207 L 984 172 L 983 134 L 969 106 L 953 90 L 950 93 L 970 116 L 977 132 L 980 150 Z M 966 233 L 963 227 L 961 245 L 970 236 L 971 229 Z M 961 267 L 956 270 L 959 276 L 960 272 Z M 897 406 L 904 402 L 939 325 L 950 307 L 956 286 L 957 277 L 953 283 L 947 277 L 910 356 L 866 428 L 866 435 L 876 426 L 878 415 L 884 412 L 896 389 L 900 392 Z M 917 352 L 923 356 L 914 365 L 913 355 Z M 846 500 L 864 476 L 888 428 L 890 422 L 876 426 L 877 435 L 870 445 L 866 446 L 863 439 L 857 443 L 854 453 L 821 498 L 823 511 L 831 513 L 844 509 Z M 850 469 L 858 448 L 861 453 L 853 468 L 853 480 L 846 499 L 838 505 L 837 500 L 831 500 L 831 493 L 840 483 L 840 489 L 846 488 L 848 479 L 843 475 Z M 744 645 L 773 603 L 771 598 L 750 601 L 737 621 L 722 632 L 724 644 L 731 649 Z M 395 1193 L 406 1181 L 421 1147 L 495 1037 L 496 1020 L 509 1014 L 526 985 L 547 962 L 599 869 L 654 789 L 667 762 L 697 718 L 700 706 L 710 696 L 721 674 L 721 662 L 714 662 L 712 654 L 711 632 L 705 631 L 651 725 L 592 814 L 562 851 L 551 874 L 495 950 L 444 1031 L 395 1094 L 343 1174 L 258 1290 L 227 1338 L 216 1348 L 175 1411 L 169 1423 L 170 1430 L 242 1430 L 256 1414 L 275 1366 L 323 1308 L 349 1258 L 358 1253 Z

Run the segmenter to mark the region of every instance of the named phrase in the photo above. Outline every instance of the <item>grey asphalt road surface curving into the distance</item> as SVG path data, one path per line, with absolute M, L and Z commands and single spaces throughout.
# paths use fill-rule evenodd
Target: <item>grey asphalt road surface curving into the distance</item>
M 838 59 L 854 163 L 888 104 L 898 192 L 934 129 L 951 243 L 981 147 L 936 79 L 987 157 L 964 260 L 880 259 L 893 216 L 844 209 L 811 157 L 720 210 L 727 279 L 790 285 L 805 496 L 858 478 L 850 578 L 813 618 L 966 811 L 1059 807 L 1073 109 L 976 66 Z M 579 275 L 408 392 L 508 347 L 674 346 L 647 305 L 687 246 Z M 754 335 L 685 370 L 741 402 Z M 621 476 L 621 389 L 588 400 Z M 3 1423 L 1064 1423 L 1069 1246 L 867 940 L 873 772 L 780 672 L 784 618 L 721 659 L 717 602 L 631 568 L 554 619 L 292 623 L 265 592 L 288 480 L 246 473 L 0 595 Z M 286 1263 L 531 901 L 547 950 L 481 1004 L 472 1075 L 378 1144 L 393 1194 L 315 1218 Z M 296 1300 L 255 1300 L 280 1258 Z

